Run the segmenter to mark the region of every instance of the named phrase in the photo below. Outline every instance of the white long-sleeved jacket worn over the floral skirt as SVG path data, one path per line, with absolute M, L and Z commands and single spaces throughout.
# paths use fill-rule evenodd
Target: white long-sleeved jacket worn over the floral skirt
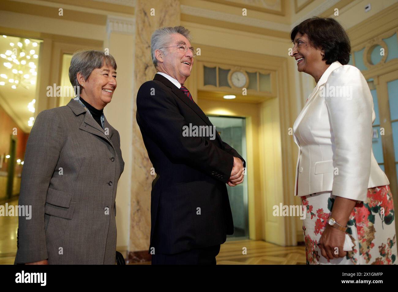
M 368 188 L 388 185 L 373 156 L 374 121 L 372 95 L 361 71 L 330 64 L 293 125 L 299 149 L 295 195 L 333 191 L 364 201 Z

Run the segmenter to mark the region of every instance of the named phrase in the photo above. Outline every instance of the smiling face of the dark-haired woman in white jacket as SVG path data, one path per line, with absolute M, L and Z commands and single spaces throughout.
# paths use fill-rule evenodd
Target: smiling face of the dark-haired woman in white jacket
M 298 61 L 298 72 L 305 72 L 311 76 L 317 75 L 318 68 L 324 67 L 326 64 L 322 60 L 323 51 L 314 48 L 306 34 L 297 33 L 293 45 L 292 56 Z

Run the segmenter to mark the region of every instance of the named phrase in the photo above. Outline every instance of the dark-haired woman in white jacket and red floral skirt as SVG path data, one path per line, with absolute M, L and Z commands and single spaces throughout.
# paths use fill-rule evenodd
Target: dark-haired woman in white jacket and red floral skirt
M 361 71 L 346 65 L 349 38 L 336 20 L 314 17 L 291 40 L 297 70 L 316 82 L 293 125 L 306 262 L 394 264 L 394 205 L 372 151 L 373 99 Z

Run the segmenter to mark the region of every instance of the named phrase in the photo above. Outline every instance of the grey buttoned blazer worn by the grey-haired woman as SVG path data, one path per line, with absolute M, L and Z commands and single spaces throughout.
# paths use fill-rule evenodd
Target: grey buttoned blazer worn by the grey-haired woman
M 78 101 L 37 115 L 27 141 L 15 263 L 115 264 L 119 132 Z

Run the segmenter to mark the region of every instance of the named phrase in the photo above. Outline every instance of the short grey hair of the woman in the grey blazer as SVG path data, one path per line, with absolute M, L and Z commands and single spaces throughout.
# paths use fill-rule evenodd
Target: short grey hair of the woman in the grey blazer
M 80 86 L 77 80 L 78 72 L 83 75 L 84 80 L 87 80 L 91 72 L 94 69 L 101 68 L 103 64 L 111 66 L 115 70 L 117 69 L 115 58 L 112 55 L 105 54 L 103 51 L 79 51 L 73 54 L 69 66 L 69 80 L 76 95 L 78 94 L 78 86 Z

